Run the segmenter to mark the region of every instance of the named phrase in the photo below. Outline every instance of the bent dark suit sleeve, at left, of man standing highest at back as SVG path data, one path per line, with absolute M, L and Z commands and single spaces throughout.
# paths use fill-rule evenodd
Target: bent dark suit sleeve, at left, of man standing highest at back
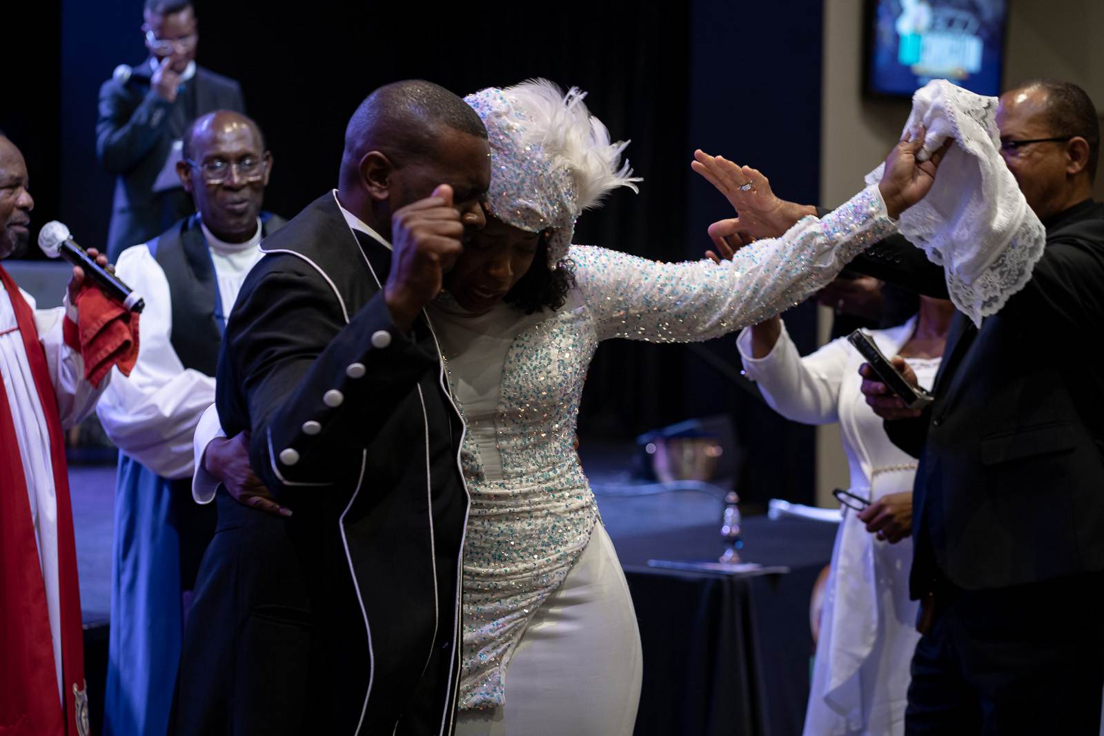
M 241 94 L 241 90 L 238 90 Z M 112 173 L 126 173 L 138 164 L 164 136 L 170 103 L 152 89 L 135 105 L 135 94 L 115 79 L 99 88 L 96 120 L 96 156 Z

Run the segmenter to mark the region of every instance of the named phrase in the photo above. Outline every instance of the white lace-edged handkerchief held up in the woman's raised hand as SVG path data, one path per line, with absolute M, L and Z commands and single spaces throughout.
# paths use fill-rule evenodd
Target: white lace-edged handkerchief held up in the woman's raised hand
M 924 126 L 922 157 L 947 138 L 957 143 L 932 191 L 901 214 L 900 232 L 943 266 L 952 301 L 978 327 L 1028 282 L 1047 238 L 1000 157 L 996 110 L 996 97 L 935 79 L 913 95 L 904 127 Z M 867 183 L 880 181 L 884 167 Z

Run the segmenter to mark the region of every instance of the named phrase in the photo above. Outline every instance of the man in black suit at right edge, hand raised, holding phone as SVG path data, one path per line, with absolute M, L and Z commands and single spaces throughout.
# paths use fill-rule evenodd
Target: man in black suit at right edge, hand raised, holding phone
M 1098 734 L 1104 689 L 1104 204 L 1093 202 L 1096 111 L 1075 85 L 1006 92 L 1001 152 L 1047 228 L 1031 279 L 980 329 L 956 313 L 933 393 L 914 412 L 868 377 L 891 439 L 920 458 L 910 587 L 924 632 L 907 734 Z M 765 184 L 765 180 L 762 180 Z M 810 207 L 766 202 L 767 235 Z M 903 237 L 849 268 L 947 298 Z M 904 361 L 893 359 L 906 376 Z M 871 376 L 869 367 L 864 375 Z M 872 527 L 877 532 L 877 524 Z

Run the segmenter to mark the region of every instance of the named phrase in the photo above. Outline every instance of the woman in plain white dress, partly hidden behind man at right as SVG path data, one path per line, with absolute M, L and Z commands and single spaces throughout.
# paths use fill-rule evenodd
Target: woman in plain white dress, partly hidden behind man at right
M 904 356 L 920 384 L 931 388 L 953 314 L 949 301 L 921 297 L 912 319 L 870 337 L 885 355 Z M 873 502 L 861 519 L 857 510 L 842 508 L 805 734 L 900 736 L 909 666 L 920 640 L 919 604 L 909 599 L 916 461 L 890 441 L 867 405 L 858 373 L 863 359 L 846 338 L 802 358 L 775 317 L 741 332 L 736 346 L 747 376 L 781 415 L 804 424 L 839 423 L 849 491 Z

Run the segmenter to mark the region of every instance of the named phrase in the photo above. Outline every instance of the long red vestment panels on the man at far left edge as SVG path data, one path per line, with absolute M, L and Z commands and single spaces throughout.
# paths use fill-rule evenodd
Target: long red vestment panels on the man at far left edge
M 26 360 L 50 433 L 50 457 L 57 497 L 57 568 L 61 594 L 62 695 L 57 700 L 53 639 L 46 590 L 31 524 L 15 417 L 0 375 L 0 736 L 81 736 L 88 733 L 84 682 L 81 593 L 70 505 L 68 472 L 57 401 L 46 355 L 34 328 L 34 312 L 8 271 L 0 281 L 15 312 Z

